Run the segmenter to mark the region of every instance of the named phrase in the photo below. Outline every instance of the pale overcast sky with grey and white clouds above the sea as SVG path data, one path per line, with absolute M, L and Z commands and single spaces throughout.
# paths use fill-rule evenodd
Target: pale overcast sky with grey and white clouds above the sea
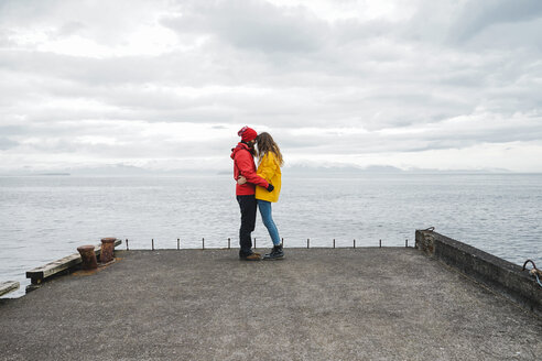
M 0 173 L 542 172 L 540 0 L 0 0 Z

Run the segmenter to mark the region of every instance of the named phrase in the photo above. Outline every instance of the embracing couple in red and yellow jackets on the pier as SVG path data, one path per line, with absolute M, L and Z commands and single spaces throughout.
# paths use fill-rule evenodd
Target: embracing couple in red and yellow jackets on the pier
M 261 254 L 252 251 L 250 233 L 254 230 L 257 208 L 263 225 L 271 236 L 273 249 L 263 260 L 284 258 L 279 230 L 271 216 L 271 203 L 279 200 L 281 192 L 282 154 L 269 133 L 258 133 L 243 127 L 238 135 L 241 141 L 231 150 L 234 160 L 234 178 L 237 182 L 236 195 L 241 209 L 241 228 L 239 229 L 239 258 L 247 261 L 259 261 Z M 256 149 L 258 146 L 258 151 Z M 254 164 L 258 156 L 258 169 Z

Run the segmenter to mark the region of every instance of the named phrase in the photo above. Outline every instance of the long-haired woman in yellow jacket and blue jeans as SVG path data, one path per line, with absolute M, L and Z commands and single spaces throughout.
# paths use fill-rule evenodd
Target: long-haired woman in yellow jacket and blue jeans
M 284 258 L 284 251 L 282 250 L 279 230 L 271 216 L 271 203 L 279 200 L 279 195 L 281 193 L 281 166 L 284 162 L 279 145 L 277 145 L 269 133 L 263 132 L 259 134 L 256 142 L 259 158 L 257 174 L 274 186 L 272 192 L 268 192 L 261 186 L 256 186 L 258 208 L 260 209 L 263 225 L 265 225 L 269 236 L 273 241 L 273 249 L 263 256 L 263 260 L 278 260 Z M 239 182 L 245 179 L 239 179 Z

